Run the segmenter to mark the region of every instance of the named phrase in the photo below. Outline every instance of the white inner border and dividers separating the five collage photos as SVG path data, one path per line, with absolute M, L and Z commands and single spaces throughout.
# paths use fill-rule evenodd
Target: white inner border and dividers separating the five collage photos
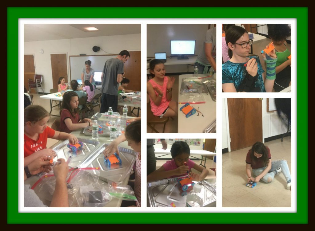
M 24 55 L 24 24 L 141 24 L 141 89 L 146 89 L 146 24 L 217 24 L 217 47 L 221 48 L 222 23 L 289 23 L 292 26 L 292 92 L 291 93 L 223 93 L 217 92 L 217 134 L 190 134 L 190 133 L 165 133 L 163 137 L 157 133 L 146 134 L 146 101 L 142 101 L 141 143 L 146 144 L 146 138 L 216 138 L 217 139 L 217 207 L 216 208 L 147 208 L 146 207 L 146 155 L 142 155 L 142 182 L 141 182 L 141 208 L 24 208 L 23 207 L 23 81 L 19 81 L 19 212 L 296 212 L 296 19 L 19 19 L 19 80 L 23 80 L 23 55 Z M 159 31 L 161 32 L 161 31 Z M 206 32 L 206 31 L 205 31 Z M 197 54 L 198 52 L 196 52 Z M 221 49 L 217 49 L 217 89 L 221 89 Z M 145 74 L 144 74 L 145 73 Z M 224 98 L 292 98 L 292 136 L 291 136 L 291 175 L 292 197 L 291 208 L 222 208 L 222 97 Z M 142 145 L 142 153 L 146 153 L 146 146 Z M 242 185 L 240 185 L 242 187 Z M 285 190 L 285 189 L 284 189 Z

